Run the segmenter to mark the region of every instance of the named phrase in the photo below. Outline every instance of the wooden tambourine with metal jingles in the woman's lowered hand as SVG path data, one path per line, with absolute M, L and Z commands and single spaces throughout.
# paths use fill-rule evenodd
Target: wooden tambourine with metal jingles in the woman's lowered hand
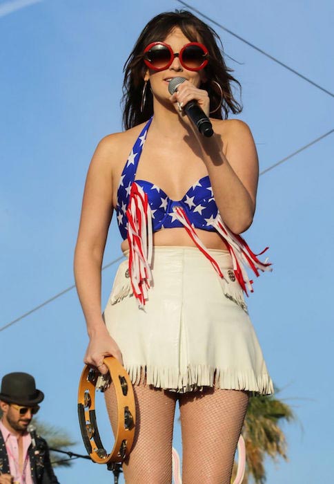
M 135 396 L 128 373 L 115 357 L 104 358 L 109 370 L 101 375 L 95 366 L 85 366 L 81 373 L 78 393 L 78 415 L 81 436 L 90 458 L 98 464 L 122 462 L 128 454 L 135 437 Z M 117 400 L 118 427 L 115 445 L 108 454 L 101 443 L 95 415 L 95 391 L 102 392 L 114 384 Z

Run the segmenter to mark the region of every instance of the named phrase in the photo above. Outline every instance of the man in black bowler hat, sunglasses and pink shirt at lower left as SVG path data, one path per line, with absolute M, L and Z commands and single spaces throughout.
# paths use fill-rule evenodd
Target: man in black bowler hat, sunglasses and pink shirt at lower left
M 28 432 L 44 394 L 28 373 L 8 373 L 1 381 L 0 484 L 59 484 L 46 440 Z

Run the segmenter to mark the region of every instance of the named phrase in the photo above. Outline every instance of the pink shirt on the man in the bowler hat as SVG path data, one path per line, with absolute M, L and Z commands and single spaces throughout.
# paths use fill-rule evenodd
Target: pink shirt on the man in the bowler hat
M 0 420 L 0 431 L 3 436 L 3 440 L 5 441 L 7 455 L 8 455 L 8 462 L 10 467 L 10 474 L 14 477 L 14 483 L 19 484 L 34 484 L 31 477 L 31 470 L 30 470 L 30 458 L 28 455 L 28 448 L 31 443 L 31 437 L 28 432 L 25 432 L 22 436 L 22 444 L 23 444 L 23 471 L 22 474 L 19 472 L 19 445 L 17 443 L 17 436 L 14 436 L 3 425 L 2 420 Z

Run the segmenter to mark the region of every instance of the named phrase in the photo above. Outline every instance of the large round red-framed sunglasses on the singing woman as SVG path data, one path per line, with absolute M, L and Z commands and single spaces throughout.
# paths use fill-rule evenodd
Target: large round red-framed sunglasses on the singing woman
M 187 71 L 200 71 L 208 64 L 208 49 L 199 42 L 190 42 L 181 48 L 179 53 L 165 42 L 153 42 L 144 50 L 144 62 L 154 71 L 164 71 L 173 63 L 175 57 Z

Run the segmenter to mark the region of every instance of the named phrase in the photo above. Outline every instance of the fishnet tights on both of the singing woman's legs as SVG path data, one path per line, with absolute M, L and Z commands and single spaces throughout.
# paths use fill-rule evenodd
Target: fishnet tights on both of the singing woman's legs
M 246 391 L 204 389 L 178 394 L 134 385 L 137 425 L 123 464 L 126 484 L 171 484 L 175 403 L 182 433 L 182 484 L 230 484 L 237 441 L 248 405 Z M 115 392 L 105 393 L 112 428 Z

